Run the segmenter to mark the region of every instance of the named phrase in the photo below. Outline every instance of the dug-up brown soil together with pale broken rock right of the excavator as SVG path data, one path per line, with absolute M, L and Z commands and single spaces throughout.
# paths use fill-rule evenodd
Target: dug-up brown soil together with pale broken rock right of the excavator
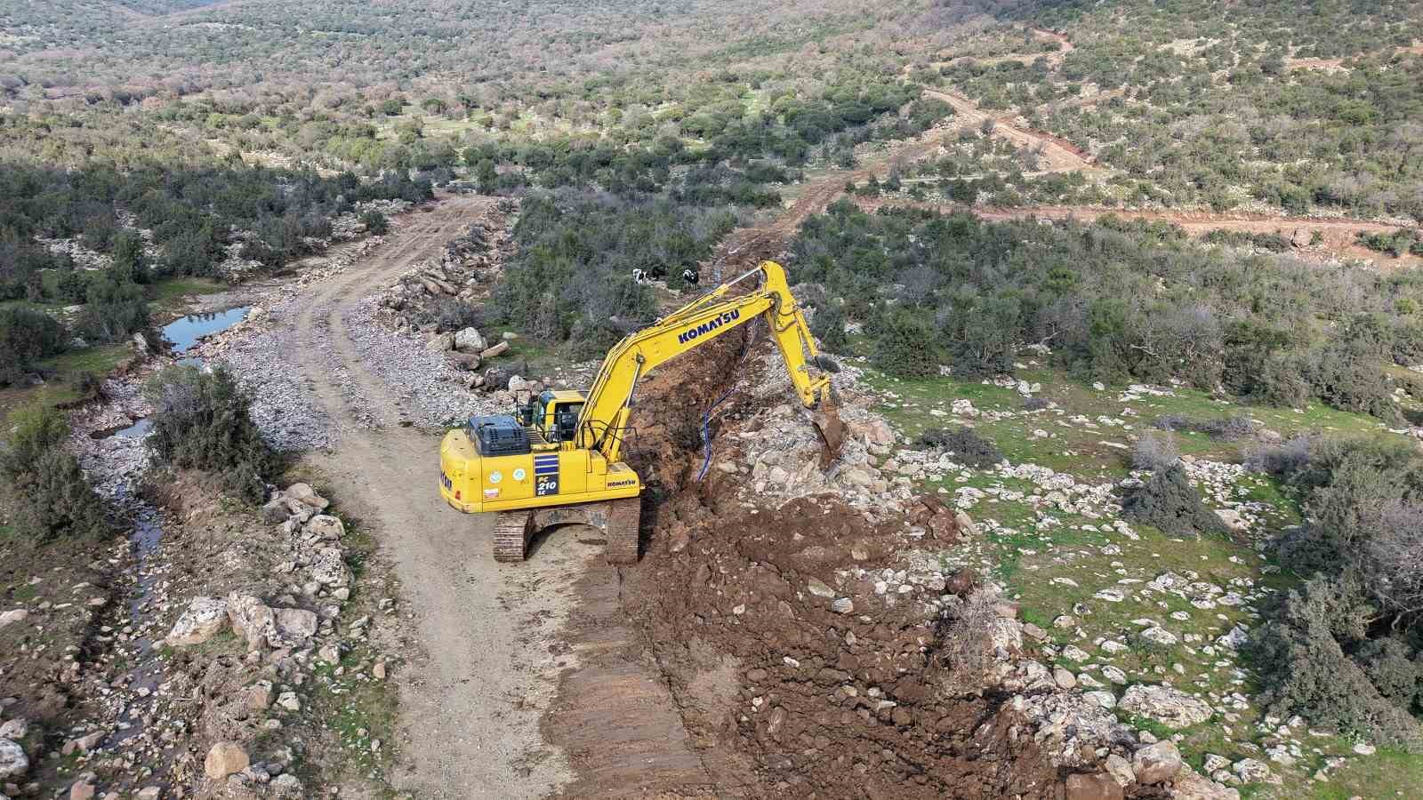
M 635 450 L 669 500 L 643 562 L 623 575 L 623 608 L 719 783 L 753 794 L 1235 796 L 1054 669 L 1006 586 L 959 562 L 986 532 L 922 480 L 965 467 L 904 448 L 858 369 L 834 379 L 851 437 L 828 471 L 770 350 L 753 344 L 724 374 L 733 393 L 703 480 L 676 423 L 670 446 Z M 726 390 L 697 386 L 683 381 L 677 397 Z M 1197 710 L 1155 689 L 1120 702 L 1146 716 Z

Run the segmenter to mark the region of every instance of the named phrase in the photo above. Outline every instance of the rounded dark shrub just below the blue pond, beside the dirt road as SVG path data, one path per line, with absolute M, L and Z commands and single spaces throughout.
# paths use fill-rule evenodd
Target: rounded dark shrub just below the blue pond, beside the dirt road
M 226 369 L 169 367 L 149 380 L 144 394 L 154 404 L 147 441 L 158 463 L 211 473 L 225 491 L 249 502 L 265 498 L 262 477 L 276 467 L 276 456 Z

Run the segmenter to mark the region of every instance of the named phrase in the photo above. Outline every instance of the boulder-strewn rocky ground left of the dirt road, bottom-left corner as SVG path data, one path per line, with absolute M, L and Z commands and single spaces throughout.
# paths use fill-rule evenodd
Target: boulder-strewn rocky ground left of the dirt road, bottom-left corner
M 7 612 L 0 636 L 21 660 L 6 669 L 20 692 L 3 730 L 23 756 L 0 767 L 4 794 L 305 797 L 303 780 L 347 779 L 353 747 L 379 779 L 371 706 L 397 659 L 367 631 L 396 605 L 363 569 L 369 545 L 306 484 L 260 512 L 199 475 L 149 494 L 157 510 L 134 508 L 131 538 L 92 565 L 102 585 L 38 572 Z M 60 639 L 78 643 L 51 653 L 57 628 L 81 629 Z M 332 716 L 344 696 L 363 707 Z M 342 716 L 371 727 L 333 726 Z

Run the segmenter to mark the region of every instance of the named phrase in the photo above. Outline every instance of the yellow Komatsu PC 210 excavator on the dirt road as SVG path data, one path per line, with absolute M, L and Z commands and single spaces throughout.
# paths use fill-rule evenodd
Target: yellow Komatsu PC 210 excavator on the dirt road
M 760 276 L 754 290 L 731 288 Z M 515 414 L 474 417 L 440 444 L 440 494 L 467 514 L 498 512 L 497 561 L 524 561 L 542 528 L 602 528 L 613 564 L 638 561 L 642 480 L 622 461 L 638 380 L 663 362 L 756 319 L 766 319 L 791 386 L 821 434 L 824 456 L 838 454 L 844 426 L 830 397 L 830 376 L 785 270 L 773 260 L 629 335 L 603 359 L 588 394 L 544 391 Z

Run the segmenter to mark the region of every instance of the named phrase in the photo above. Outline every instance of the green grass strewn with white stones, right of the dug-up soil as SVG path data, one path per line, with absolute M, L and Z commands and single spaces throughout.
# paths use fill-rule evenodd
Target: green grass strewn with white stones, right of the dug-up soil
M 855 344 L 852 340 L 851 350 L 857 349 Z M 1037 397 L 1056 403 L 1060 411 L 1057 409 L 1026 411 L 1023 399 L 1015 389 L 985 384 L 979 380 L 948 377 L 899 380 L 868 369 L 864 383 L 881 397 L 877 411 L 911 441 L 928 428 L 962 424 L 992 440 L 1013 464 L 1039 464 L 1070 474 L 1079 484 L 1094 485 L 1127 477 L 1131 470 L 1130 447 L 1134 438 L 1151 430 L 1153 421 L 1165 414 L 1202 421 L 1248 414 L 1282 437 L 1311 430 L 1372 436 L 1385 428 L 1376 419 L 1319 404 L 1311 404 L 1299 411 L 1258 407 L 1225 401 L 1185 387 L 1174 387 L 1168 396 L 1144 393 L 1134 400 L 1123 401 L 1120 397 L 1127 390 L 1124 384 L 1096 390 L 1032 362 L 1029 369 L 1017 370 L 1017 377 L 1027 383 L 1040 383 L 1042 391 Z M 988 420 L 985 416 L 955 417 L 952 404 L 961 399 L 969 400 L 979 411 L 1002 411 L 1012 416 L 1000 420 Z M 1120 420 L 1120 424 L 1099 421 L 1099 417 Z M 1046 431 L 1049 436 L 1044 437 L 1039 431 Z M 1214 461 L 1238 463 L 1242 447 L 1248 446 L 1244 441 L 1222 441 L 1200 433 L 1180 431 L 1174 436 L 1184 454 Z M 1164 680 L 1178 689 L 1207 696 L 1212 703 L 1234 692 L 1252 695 L 1255 686 L 1248 665 L 1235 660 L 1229 651 L 1214 646 L 1214 641 L 1237 623 L 1258 622 L 1245 606 L 1217 604 L 1215 608 L 1201 609 L 1178 595 L 1136 592 L 1144 582 L 1168 571 L 1192 581 L 1214 584 L 1227 592 L 1238 591 L 1232 586 L 1232 581 L 1239 579 L 1248 579 L 1257 588 L 1268 586 L 1275 591 L 1292 586 L 1298 578 L 1288 571 L 1262 572 L 1261 568 L 1266 561 L 1258 552 L 1261 542 L 1268 537 L 1301 521 L 1298 497 L 1276 480 L 1247 474 L 1231 487 L 1232 500 L 1261 502 L 1269 508 L 1261 514 L 1261 522 L 1248 534 L 1173 537 L 1128 521 L 1130 530 L 1137 535 L 1136 540 L 1101 530 L 1103 522 L 1114 518 L 1110 514 L 1096 520 L 1047 505 L 1035 508 L 1027 498 L 1044 494 L 1044 490 L 1030 481 L 1003 477 L 996 470 L 948 473 L 942 478 L 922 483 L 925 491 L 946 498 L 953 497 L 959 487 L 1023 493 L 1022 500 L 989 494 L 968 508 L 969 515 L 985 528 L 985 534 L 980 541 L 970 542 L 965 552 L 952 558 L 959 561 L 968 558 L 970 564 L 976 558 L 1005 585 L 1009 596 L 1020 604 L 1023 619 L 1043 628 L 1052 643 L 1059 648 L 1069 643 L 1081 648 L 1089 655 L 1087 663 L 1099 666 L 1110 663 L 1121 669 L 1130 683 Z M 1057 524 L 1037 530 L 1043 517 L 1052 517 Z M 1110 602 L 1094 596 L 1107 588 L 1121 591 L 1126 598 L 1121 602 Z M 1090 614 L 1074 614 L 1074 604 L 1081 604 Z M 1052 621 L 1063 614 L 1076 616 L 1073 628 L 1052 626 Z M 1173 618 L 1171 614 L 1184 615 L 1184 619 Z M 1175 645 L 1161 646 L 1138 639 L 1136 633 L 1143 629 L 1138 619 L 1161 623 L 1180 641 Z M 1083 631 L 1083 636 L 1077 635 L 1077 628 Z M 1188 641 L 1188 636 L 1198 639 Z M 1099 638 L 1123 642 L 1127 649 L 1116 655 L 1109 653 L 1096 646 Z M 1207 645 L 1212 645 L 1212 653 L 1204 651 Z M 1228 662 L 1227 666 L 1218 666 L 1222 659 Z M 1059 656 L 1056 662 L 1074 672 L 1084 670 L 1083 663 L 1064 656 Z M 1107 683 L 1100 669 L 1086 672 Z M 1113 689 L 1120 692 L 1118 688 Z M 1217 753 L 1231 760 L 1247 756 L 1264 760 L 1265 756 L 1259 750 L 1248 746 L 1248 743 L 1258 744 L 1265 736 L 1257 727 L 1259 712 L 1252 706 L 1232 713 L 1234 722 L 1220 716 L 1175 732 L 1150 720 L 1127 722 L 1157 736 L 1180 735 L 1183 754 L 1197 766 L 1204 763 L 1207 753 Z M 1245 787 L 1242 796 L 1301 797 L 1315 793 L 1319 797 L 1355 794 L 1382 797 L 1396 794 L 1393 789 L 1382 791 L 1379 786 L 1417 786 L 1423 781 L 1423 766 L 1416 757 L 1406 753 L 1385 756 L 1380 750 L 1380 756 L 1372 757 L 1350 754 L 1349 767 L 1338 779 L 1332 779 L 1329 784 L 1315 784 L 1309 776 L 1323 766 L 1325 757 L 1349 754 L 1349 743 L 1309 737 L 1302 730 L 1298 733 L 1306 756 L 1292 769 L 1274 764 L 1275 772 L 1285 777 L 1285 786 Z M 1311 753 L 1311 749 L 1316 749 L 1318 753 Z M 1389 773 L 1390 777 L 1370 787 L 1366 776 L 1375 767 Z M 1349 777 L 1353 773 L 1359 777 Z M 1335 794 L 1336 790 L 1342 793 Z

